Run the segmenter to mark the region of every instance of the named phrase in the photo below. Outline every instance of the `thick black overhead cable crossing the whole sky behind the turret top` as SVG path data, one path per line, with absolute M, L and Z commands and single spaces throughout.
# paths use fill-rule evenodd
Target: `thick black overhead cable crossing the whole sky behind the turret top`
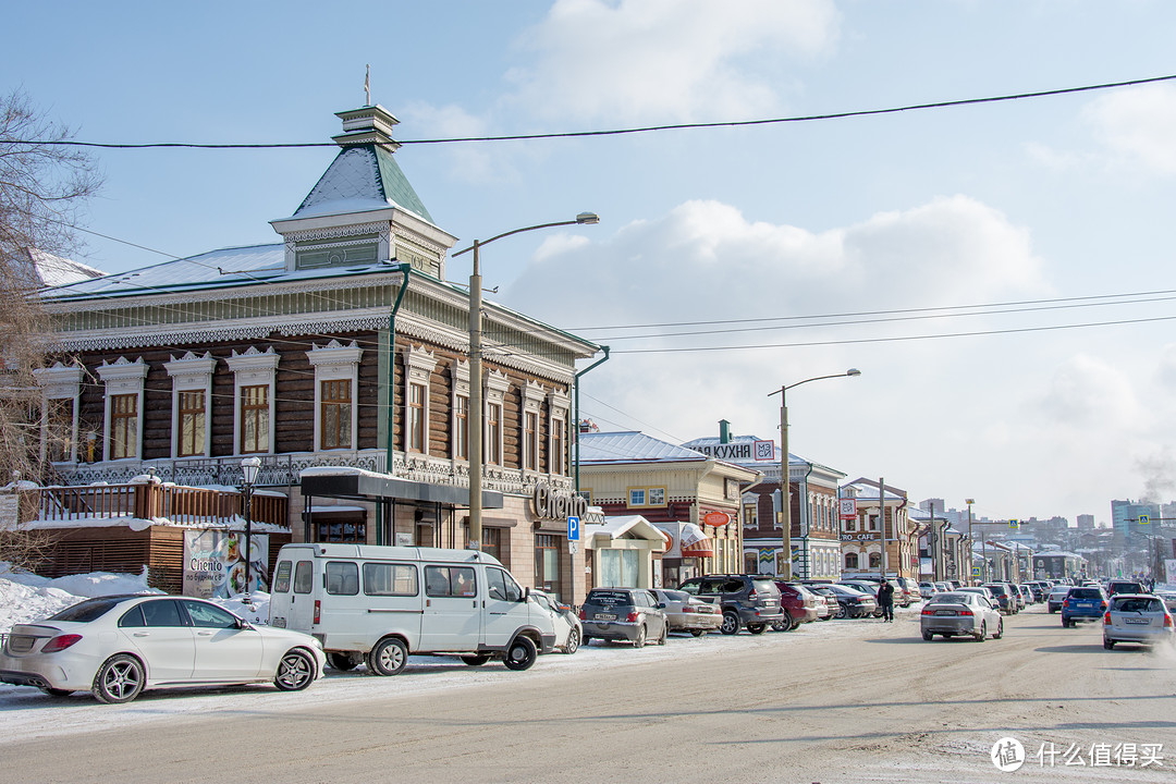
M 1101 89 L 1115 89 L 1118 87 L 1138 87 L 1141 85 L 1154 85 L 1157 82 L 1176 80 L 1176 74 L 1169 76 L 1151 76 L 1148 79 L 1131 79 L 1128 81 L 1103 82 L 1101 85 L 1083 85 L 1082 87 L 1062 87 L 1058 89 L 1044 89 L 1031 93 L 1014 93 L 1011 95 L 991 95 L 988 98 L 965 98 L 954 101 L 934 101 L 930 103 L 910 103 L 907 106 L 895 106 L 884 109 L 856 109 L 850 112 L 833 112 L 828 114 L 807 114 L 790 118 L 771 118 L 761 120 L 726 120 L 717 122 L 677 122 L 659 126 L 642 126 L 636 128 L 613 128 L 604 130 L 568 130 L 560 133 L 532 133 L 532 134 L 508 134 L 502 136 L 453 136 L 448 139 L 409 139 L 397 140 L 400 145 L 449 145 L 459 142 L 480 141 L 526 141 L 536 139 L 576 139 L 586 136 L 621 136 L 627 134 L 653 133 L 657 130 L 689 130 L 699 128 L 740 128 L 747 126 L 781 125 L 786 122 L 815 122 L 817 120 L 844 120 L 848 118 L 866 118 L 882 114 L 898 114 L 902 112 L 921 112 L 927 109 L 947 109 L 957 106 L 976 106 L 981 103 L 1001 103 L 1005 101 L 1020 101 L 1034 98 L 1050 98 L 1054 95 L 1071 95 L 1075 93 L 1089 93 Z M 0 143 L 9 145 L 45 145 L 65 147 L 100 147 L 103 149 L 159 149 L 159 148 L 188 148 L 188 149 L 292 149 L 306 147 L 335 147 L 335 142 L 286 142 L 286 143 L 261 143 L 261 145 L 212 145 L 192 142 L 145 142 L 145 143 L 106 143 L 74 140 L 33 140 L 33 139 L 6 139 Z

